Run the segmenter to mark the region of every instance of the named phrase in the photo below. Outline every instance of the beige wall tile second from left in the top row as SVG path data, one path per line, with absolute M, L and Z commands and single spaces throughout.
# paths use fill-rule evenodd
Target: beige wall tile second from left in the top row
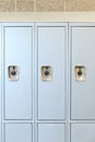
M 16 11 L 34 11 L 33 0 L 16 0 Z

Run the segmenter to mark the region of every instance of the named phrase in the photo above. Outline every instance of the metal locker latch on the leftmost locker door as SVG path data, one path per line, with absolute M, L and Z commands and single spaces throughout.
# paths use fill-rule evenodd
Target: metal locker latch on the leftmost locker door
M 8 76 L 11 81 L 17 81 L 20 78 L 20 70 L 16 66 L 9 66 L 8 67 Z

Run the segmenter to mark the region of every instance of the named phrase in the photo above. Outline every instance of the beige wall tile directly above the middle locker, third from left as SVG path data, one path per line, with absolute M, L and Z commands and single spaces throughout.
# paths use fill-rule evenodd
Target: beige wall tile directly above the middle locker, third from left
M 37 11 L 64 11 L 64 0 L 36 0 Z

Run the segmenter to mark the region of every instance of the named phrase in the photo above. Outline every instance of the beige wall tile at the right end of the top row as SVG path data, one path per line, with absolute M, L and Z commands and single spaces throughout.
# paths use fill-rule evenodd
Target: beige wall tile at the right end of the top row
M 66 0 L 66 11 L 95 11 L 95 0 Z

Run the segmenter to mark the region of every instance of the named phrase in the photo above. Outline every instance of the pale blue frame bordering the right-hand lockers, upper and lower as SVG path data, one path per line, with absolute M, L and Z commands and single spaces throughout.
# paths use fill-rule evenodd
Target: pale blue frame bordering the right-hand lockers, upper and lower
M 68 62 L 68 84 L 69 84 L 69 141 L 71 142 L 71 125 L 73 123 L 95 123 L 95 119 L 71 119 L 71 71 L 72 71 L 72 27 L 95 27 L 95 22 L 69 22 L 69 38 L 68 38 L 68 45 L 69 45 L 69 62 Z

